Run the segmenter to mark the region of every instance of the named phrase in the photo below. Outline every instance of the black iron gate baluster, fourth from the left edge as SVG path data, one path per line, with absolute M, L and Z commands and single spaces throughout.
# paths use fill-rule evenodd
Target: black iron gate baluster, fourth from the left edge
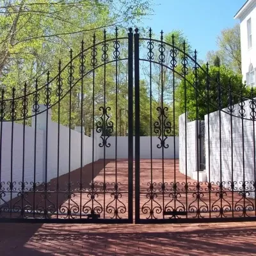
M 35 94 L 33 98 L 33 113 L 35 113 L 35 140 L 34 140 L 34 180 L 33 180 L 33 218 L 35 218 L 35 196 L 36 196 L 36 132 L 37 132 L 37 114 L 39 112 L 39 93 L 38 93 L 38 79 L 35 81 Z

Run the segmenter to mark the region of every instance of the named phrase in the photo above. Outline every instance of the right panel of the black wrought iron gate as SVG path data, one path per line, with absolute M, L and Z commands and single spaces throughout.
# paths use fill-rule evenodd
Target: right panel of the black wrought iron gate
M 255 220 L 253 90 L 163 31 L 134 62 L 136 223 Z

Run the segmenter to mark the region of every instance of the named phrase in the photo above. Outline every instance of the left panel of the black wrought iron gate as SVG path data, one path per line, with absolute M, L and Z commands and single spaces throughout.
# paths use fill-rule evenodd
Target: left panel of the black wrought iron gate
M 0 221 L 132 223 L 132 55 L 132 29 L 104 31 L 2 90 Z

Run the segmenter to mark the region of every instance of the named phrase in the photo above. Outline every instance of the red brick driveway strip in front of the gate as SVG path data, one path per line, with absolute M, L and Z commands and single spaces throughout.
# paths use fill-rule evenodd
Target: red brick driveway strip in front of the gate
M 256 255 L 256 223 L 0 224 L 0 255 Z

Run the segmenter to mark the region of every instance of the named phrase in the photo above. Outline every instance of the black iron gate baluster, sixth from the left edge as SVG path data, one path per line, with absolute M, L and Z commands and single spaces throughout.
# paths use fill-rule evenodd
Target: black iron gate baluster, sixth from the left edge
M 56 184 L 56 190 L 57 190 L 57 219 L 59 218 L 59 190 L 60 190 L 60 184 L 59 184 L 59 176 L 60 176 L 60 99 L 63 93 L 62 89 L 63 85 L 63 79 L 61 78 L 61 61 L 59 61 L 58 66 L 58 79 L 57 79 L 57 91 L 56 95 L 58 97 L 58 148 L 57 148 L 57 184 Z

